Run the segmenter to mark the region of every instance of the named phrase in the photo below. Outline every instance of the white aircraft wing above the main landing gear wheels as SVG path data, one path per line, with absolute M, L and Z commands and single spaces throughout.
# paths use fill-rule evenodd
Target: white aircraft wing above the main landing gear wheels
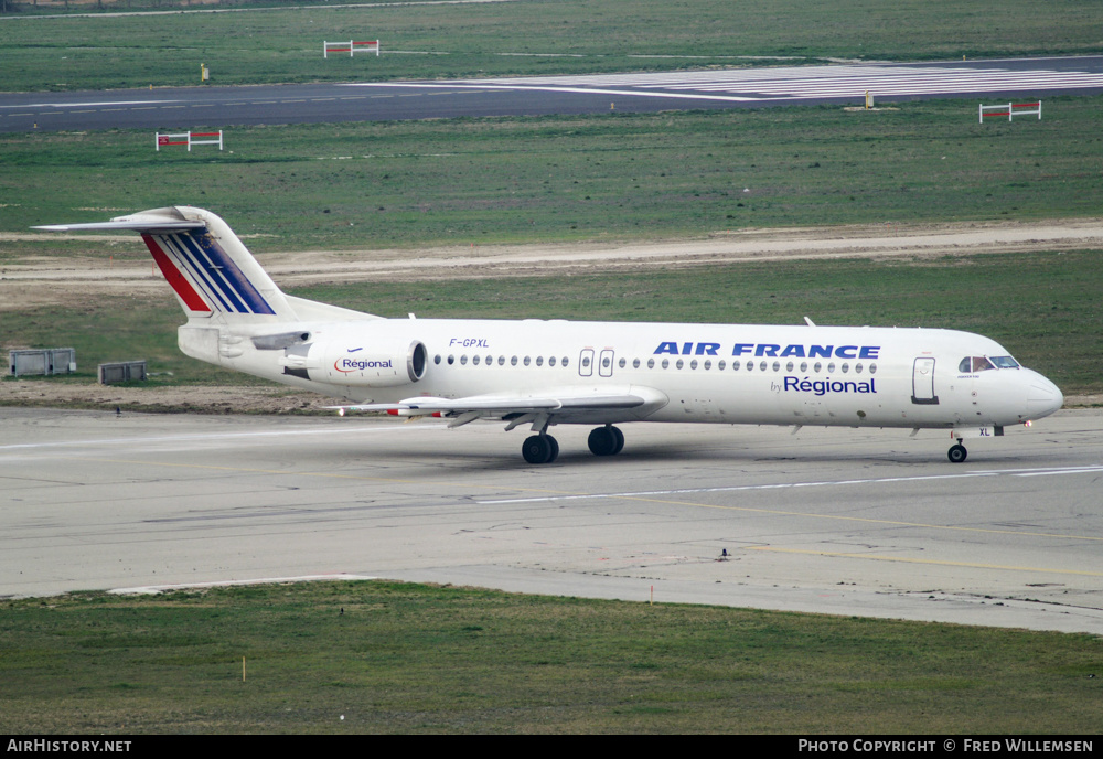
M 601 388 L 577 387 L 539 395 L 473 395 L 465 398 L 420 396 L 398 403 L 354 404 L 331 406 L 344 411 L 381 411 L 396 416 L 438 416 L 450 419 L 449 427 L 459 427 L 481 418 L 499 418 L 510 423 L 506 429 L 528 421 L 593 423 L 642 419 L 667 403 L 665 394 L 651 387 Z

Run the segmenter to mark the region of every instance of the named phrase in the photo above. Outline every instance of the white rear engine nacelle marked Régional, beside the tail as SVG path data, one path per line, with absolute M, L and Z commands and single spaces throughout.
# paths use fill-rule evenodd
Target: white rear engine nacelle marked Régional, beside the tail
M 419 340 L 372 341 L 353 346 L 315 343 L 289 349 L 285 371 L 332 385 L 394 387 L 424 377 L 427 364 L 428 352 Z

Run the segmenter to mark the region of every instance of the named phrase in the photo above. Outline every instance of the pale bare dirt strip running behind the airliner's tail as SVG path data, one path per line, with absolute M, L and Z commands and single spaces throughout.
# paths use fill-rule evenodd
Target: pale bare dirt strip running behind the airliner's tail
M 20 233 L 26 238 L 35 233 Z M 50 233 L 38 233 L 49 238 Z M 0 312 L 42 306 L 79 307 L 105 295 L 164 292 L 160 271 L 146 259 L 116 260 L 107 246 L 137 236 L 65 235 L 86 240 L 89 254 L 28 256 L 0 268 Z M 258 256 L 281 286 L 355 282 L 386 278 L 431 281 L 456 278 L 529 277 L 599 270 L 664 269 L 739 261 L 801 258 L 939 258 L 943 256 L 1103 248 L 1103 221 L 1000 224 L 863 225 L 721 232 L 704 239 L 576 245 L 496 245 L 419 250 L 297 250 Z M 103 250 L 103 253 L 98 253 Z

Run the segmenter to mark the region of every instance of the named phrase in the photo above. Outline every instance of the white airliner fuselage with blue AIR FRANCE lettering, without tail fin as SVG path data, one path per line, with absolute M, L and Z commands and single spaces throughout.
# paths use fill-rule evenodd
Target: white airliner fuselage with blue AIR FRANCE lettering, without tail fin
M 181 328 L 185 352 L 186 330 Z M 1028 368 L 961 371 L 965 357 L 1007 352 L 993 340 L 952 330 L 366 319 L 250 332 L 293 330 L 309 333 L 299 351 L 304 355 L 290 361 L 300 376 L 285 373 L 285 351 L 257 350 L 248 339 L 239 341 L 239 355 L 215 363 L 355 403 L 636 388 L 655 394 L 641 408 L 560 415 L 556 424 L 973 428 L 1037 419 L 1062 402 L 1052 383 Z M 416 381 L 405 365 L 414 343 L 425 348 Z

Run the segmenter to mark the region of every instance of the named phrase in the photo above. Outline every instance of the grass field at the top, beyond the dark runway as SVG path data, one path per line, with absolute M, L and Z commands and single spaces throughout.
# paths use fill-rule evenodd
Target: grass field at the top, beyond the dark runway
M 1050 0 L 1045 12 L 1028 0 L 633 0 L 630 12 L 622 0 L 297 4 L 308 7 L 111 18 L 35 18 L 64 7 L 20 4 L 21 12 L 0 17 L 0 86 L 197 85 L 201 63 L 212 84 L 227 85 L 1103 51 L 1095 0 Z M 154 6 L 165 8 L 194 10 Z M 323 40 L 350 39 L 379 39 L 384 54 L 322 58 Z

